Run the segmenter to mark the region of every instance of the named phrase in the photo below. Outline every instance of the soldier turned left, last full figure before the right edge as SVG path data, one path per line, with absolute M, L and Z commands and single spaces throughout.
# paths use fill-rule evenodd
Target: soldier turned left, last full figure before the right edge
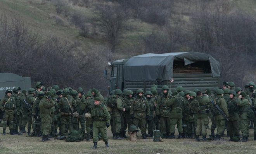
M 249 119 L 247 117 L 248 109 L 250 108 L 251 99 L 246 95 L 244 91 L 240 93 L 237 100 L 237 106 L 239 107 L 239 121 L 240 130 L 242 132 L 243 138 L 242 142 L 248 142 L 249 137 Z

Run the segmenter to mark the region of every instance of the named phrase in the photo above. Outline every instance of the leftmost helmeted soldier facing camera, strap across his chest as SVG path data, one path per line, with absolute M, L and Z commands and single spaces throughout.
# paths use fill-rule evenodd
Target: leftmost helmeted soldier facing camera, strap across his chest
M 9 123 L 10 135 L 15 135 L 14 133 L 14 111 L 16 110 L 15 98 L 12 97 L 12 90 L 8 89 L 5 91 L 5 97 L 0 101 L 0 109 L 3 112 L 3 135 L 5 135 L 5 130 L 7 127 L 7 121 Z

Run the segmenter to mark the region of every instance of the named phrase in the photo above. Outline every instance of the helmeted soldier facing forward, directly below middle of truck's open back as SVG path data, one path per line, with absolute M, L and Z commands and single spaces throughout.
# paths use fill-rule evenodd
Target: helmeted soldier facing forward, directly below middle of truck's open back
M 198 101 L 196 99 L 197 95 L 195 94 L 194 91 L 189 92 L 186 95 L 187 95 L 187 97 L 185 98 L 185 101 L 184 101 L 184 104 L 185 104 L 185 107 L 184 107 L 185 119 L 184 120 L 185 120 L 185 123 L 187 124 L 187 137 L 189 139 L 193 139 L 192 134 L 194 134 L 194 132 L 195 132 L 196 114 L 197 114 L 198 110 L 192 110 L 194 107 L 192 105 L 196 104 L 198 106 Z

